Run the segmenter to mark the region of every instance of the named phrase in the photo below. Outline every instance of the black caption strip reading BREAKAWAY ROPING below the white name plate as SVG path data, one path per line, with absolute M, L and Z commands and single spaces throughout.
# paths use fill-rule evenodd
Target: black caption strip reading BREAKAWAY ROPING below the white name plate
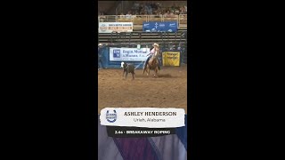
M 106 126 L 109 137 L 134 138 L 134 137 L 157 137 L 175 134 L 175 128 L 142 128 L 142 127 L 123 127 Z

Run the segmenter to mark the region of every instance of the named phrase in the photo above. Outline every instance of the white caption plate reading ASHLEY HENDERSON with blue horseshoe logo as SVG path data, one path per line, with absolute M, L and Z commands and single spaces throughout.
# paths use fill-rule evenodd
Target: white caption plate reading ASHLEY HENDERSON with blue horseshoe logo
M 185 126 L 184 115 L 183 108 L 103 108 L 100 122 L 108 126 L 176 128 Z

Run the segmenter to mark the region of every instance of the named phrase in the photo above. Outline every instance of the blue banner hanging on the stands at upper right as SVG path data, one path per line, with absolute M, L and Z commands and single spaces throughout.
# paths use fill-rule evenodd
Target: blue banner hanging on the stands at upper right
M 177 21 L 150 21 L 142 23 L 142 31 L 144 32 L 176 32 L 177 28 Z

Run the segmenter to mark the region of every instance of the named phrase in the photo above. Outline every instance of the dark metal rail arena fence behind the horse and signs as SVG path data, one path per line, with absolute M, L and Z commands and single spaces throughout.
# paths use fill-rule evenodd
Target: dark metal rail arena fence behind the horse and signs
M 138 35 L 137 35 L 138 34 Z M 126 47 L 137 48 L 137 44 L 141 45 L 141 48 L 151 48 L 154 43 L 159 44 L 160 51 L 179 51 L 181 57 L 181 63 L 187 64 L 187 32 L 177 33 L 114 33 L 105 34 L 105 36 L 99 36 L 99 42 L 102 44 L 108 44 L 105 47 Z M 108 50 L 108 49 L 103 49 Z M 106 54 L 110 52 L 106 51 Z M 110 58 L 103 57 L 106 64 Z

